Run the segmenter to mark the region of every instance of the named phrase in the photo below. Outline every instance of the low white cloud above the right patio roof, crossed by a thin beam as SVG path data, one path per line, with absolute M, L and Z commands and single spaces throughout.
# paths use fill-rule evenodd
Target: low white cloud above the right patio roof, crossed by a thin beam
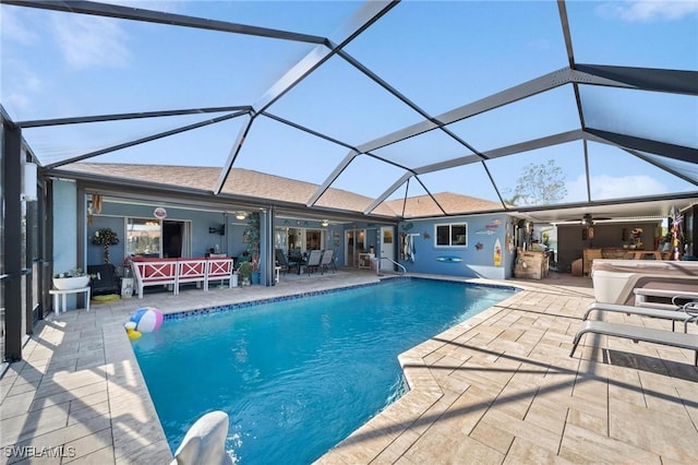
M 566 202 L 579 202 L 587 199 L 586 177 L 579 176 L 567 186 Z M 636 195 L 669 193 L 666 186 L 650 176 L 595 176 L 591 178 L 591 199 L 623 199 Z

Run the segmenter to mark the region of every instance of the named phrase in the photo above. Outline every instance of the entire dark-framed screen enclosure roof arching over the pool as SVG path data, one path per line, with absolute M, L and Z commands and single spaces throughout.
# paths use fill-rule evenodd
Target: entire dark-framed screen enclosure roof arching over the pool
M 323 212 L 366 213 L 377 203 L 371 213 L 396 217 L 405 196 L 408 217 L 461 213 L 461 201 L 462 213 L 504 200 L 529 212 L 542 206 L 540 217 L 551 204 L 595 207 L 589 202 L 645 200 L 643 192 L 698 199 L 690 182 L 697 177 L 690 162 L 698 159 L 696 2 L 221 0 L 104 8 L 121 19 L 95 2 L 22 3 L 0 4 L 3 120 L 20 124 L 45 167 L 95 150 L 109 153 L 85 162 L 116 163 L 71 164 L 61 176 L 93 170 L 157 183 L 177 176 L 154 167 L 171 174 L 177 166 L 214 166 L 213 174 L 188 169 L 196 179 L 190 184 L 214 195 L 310 202 Z M 77 8 L 95 14 L 51 11 Z M 137 9 L 155 10 L 148 17 L 163 23 L 143 21 Z M 186 132 L 178 128 L 225 112 L 164 116 L 220 107 L 248 112 Z M 159 116 L 27 122 L 139 112 Z M 164 139 L 119 145 L 168 130 Z M 352 147 L 366 154 L 345 167 Z M 490 159 L 483 165 L 480 155 Z M 564 189 L 522 201 L 530 166 L 558 169 Z M 414 176 L 392 192 L 409 170 Z M 605 186 L 626 178 L 640 186 L 646 177 L 651 189 L 626 189 L 627 195 Z

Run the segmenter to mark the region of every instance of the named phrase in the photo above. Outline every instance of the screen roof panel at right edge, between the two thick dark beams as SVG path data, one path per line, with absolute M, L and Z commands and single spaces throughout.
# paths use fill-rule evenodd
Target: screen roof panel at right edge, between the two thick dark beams
M 579 86 L 587 126 L 698 148 L 698 97 Z

